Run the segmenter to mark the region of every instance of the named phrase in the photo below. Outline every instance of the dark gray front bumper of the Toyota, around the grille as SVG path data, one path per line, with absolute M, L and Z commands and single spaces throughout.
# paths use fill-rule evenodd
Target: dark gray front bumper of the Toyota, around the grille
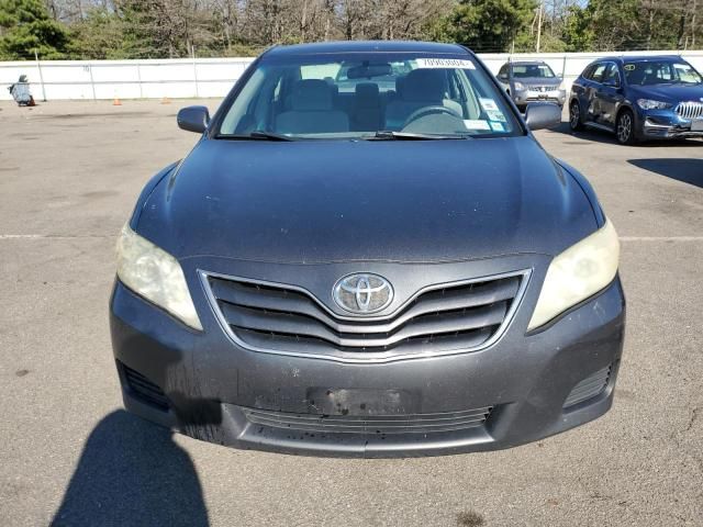
M 506 258 L 502 265 L 525 268 L 520 259 Z M 198 439 L 315 456 L 494 450 L 565 431 L 601 416 L 612 404 L 625 302 L 616 279 L 526 336 L 547 264 L 545 257 L 535 267 L 515 318 L 495 344 L 480 351 L 383 363 L 250 351 L 226 337 L 197 282 L 191 291 L 202 333 L 116 282 L 110 322 L 125 406 Z M 461 266 L 477 276 L 477 266 L 486 264 Z M 599 375 L 602 389 L 574 400 Z M 567 400 L 572 404 L 565 408 Z

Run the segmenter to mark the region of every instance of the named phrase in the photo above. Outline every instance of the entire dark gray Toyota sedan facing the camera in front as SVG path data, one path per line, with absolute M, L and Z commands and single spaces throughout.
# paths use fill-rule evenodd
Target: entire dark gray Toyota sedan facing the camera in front
M 201 138 L 120 236 L 126 407 L 233 447 L 366 457 L 507 448 L 604 414 L 618 238 L 531 132 L 559 121 L 550 103 L 523 119 L 458 45 L 267 51 L 212 120 L 178 113 Z

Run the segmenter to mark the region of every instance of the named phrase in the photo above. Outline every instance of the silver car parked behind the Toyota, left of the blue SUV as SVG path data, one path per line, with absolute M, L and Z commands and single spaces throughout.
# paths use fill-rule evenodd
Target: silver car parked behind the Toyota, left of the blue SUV
M 535 101 L 554 102 L 562 108 L 567 99 L 561 77 L 540 60 L 505 63 L 498 71 L 498 80 L 522 112 Z

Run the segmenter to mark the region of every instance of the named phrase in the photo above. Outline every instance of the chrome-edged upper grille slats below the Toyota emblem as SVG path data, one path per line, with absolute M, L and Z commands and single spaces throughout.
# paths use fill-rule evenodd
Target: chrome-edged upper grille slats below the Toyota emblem
M 437 287 L 383 319 L 338 317 L 286 285 L 208 276 L 221 321 L 239 344 L 294 354 L 428 352 L 480 347 L 506 323 L 523 274 Z

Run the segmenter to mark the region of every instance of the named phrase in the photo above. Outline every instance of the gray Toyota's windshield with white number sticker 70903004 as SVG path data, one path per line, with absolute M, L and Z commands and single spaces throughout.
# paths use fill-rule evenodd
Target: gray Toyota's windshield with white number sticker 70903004
M 470 55 L 264 56 L 223 112 L 230 139 L 447 139 L 523 134 Z

